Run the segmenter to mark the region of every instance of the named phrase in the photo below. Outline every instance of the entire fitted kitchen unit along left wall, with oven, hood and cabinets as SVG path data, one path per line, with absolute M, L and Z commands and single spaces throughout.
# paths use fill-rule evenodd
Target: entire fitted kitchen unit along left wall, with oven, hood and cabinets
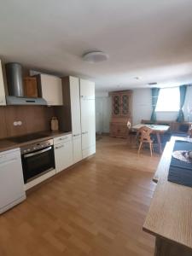
M 24 76 L 23 70 L 1 63 L 0 213 L 24 201 L 28 189 L 96 153 L 95 84 L 34 71 Z

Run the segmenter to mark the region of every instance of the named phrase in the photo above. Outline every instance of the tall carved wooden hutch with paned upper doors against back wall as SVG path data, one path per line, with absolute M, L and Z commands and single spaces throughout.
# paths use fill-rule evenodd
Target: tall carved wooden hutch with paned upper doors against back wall
M 127 122 L 131 121 L 132 91 L 121 90 L 110 92 L 112 96 L 112 119 L 110 122 L 111 137 L 127 137 Z

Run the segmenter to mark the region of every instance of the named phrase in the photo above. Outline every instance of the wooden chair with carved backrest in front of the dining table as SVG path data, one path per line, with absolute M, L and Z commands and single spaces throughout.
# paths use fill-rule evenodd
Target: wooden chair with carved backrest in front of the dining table
M 150 154 L 152 156 L 153 150 L 154 150 L 153 140 L 150 137 L 152 131 L 153 130 L 148 126 L 143 126 L 138 130 L 138 139 L 139 139 L 138 154 L 140 154 L 141 148 L 143 147 L 143 143 L 148 143 L 150 148 Z

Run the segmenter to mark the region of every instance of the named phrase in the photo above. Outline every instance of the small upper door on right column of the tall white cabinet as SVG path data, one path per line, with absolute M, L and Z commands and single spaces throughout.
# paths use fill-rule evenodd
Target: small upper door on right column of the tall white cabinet
M 84 99 L 95 99 L 95 83 L 80 79 L 80 97 Z

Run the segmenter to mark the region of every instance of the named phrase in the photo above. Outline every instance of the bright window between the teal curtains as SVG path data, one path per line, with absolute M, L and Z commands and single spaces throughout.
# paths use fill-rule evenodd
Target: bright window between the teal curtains
M 178 111 L 180 104 L 179 87 L 160 89 L 155 111 Z

